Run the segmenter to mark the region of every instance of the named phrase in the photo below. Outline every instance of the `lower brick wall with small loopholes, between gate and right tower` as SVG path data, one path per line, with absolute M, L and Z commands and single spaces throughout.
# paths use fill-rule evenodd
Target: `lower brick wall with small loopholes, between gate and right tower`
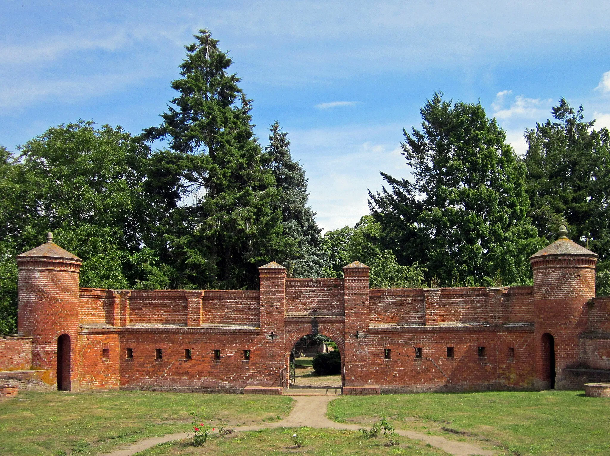
M 532 330 L 498 331 L 497 328 L 409 328 L 397 332 L 374 330 L 361 342 L 367 364 L 364 385 L 379 385 L 382 392 L 455 391 L 533 387 Z M 415 347 L 423 350 L 415 358 Z M 447 357 L 453 347 L 454 358 Z M 486 357 L 479 358 L 478 348 Z M 508 360 L 508 348 L 514 361 Z M 391 358 L 384 359 L 384 349 Z M 346 368 L 346 376 L 359 374 Z M 355 375 L 354 375 L 355 376 Z

